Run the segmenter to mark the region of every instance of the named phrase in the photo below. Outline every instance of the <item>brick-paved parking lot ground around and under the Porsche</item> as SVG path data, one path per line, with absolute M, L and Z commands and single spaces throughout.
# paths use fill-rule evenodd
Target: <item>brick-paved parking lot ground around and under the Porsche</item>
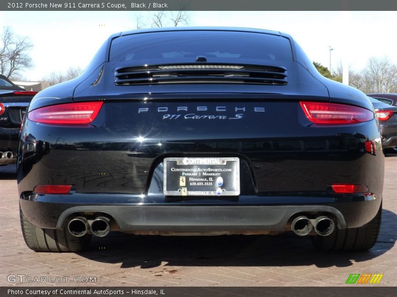
M 397 286 L 397 155 L 386 157 L 383 218 L 366 252 L 325 252 L 309 238 L 112 233 L 81 253 L 34 252 L 19 226 L 15 166 L 0 167 L 1 286 L 351 286 L 352 273 Z M 23 275 L 23 276 L 21 276 Z

